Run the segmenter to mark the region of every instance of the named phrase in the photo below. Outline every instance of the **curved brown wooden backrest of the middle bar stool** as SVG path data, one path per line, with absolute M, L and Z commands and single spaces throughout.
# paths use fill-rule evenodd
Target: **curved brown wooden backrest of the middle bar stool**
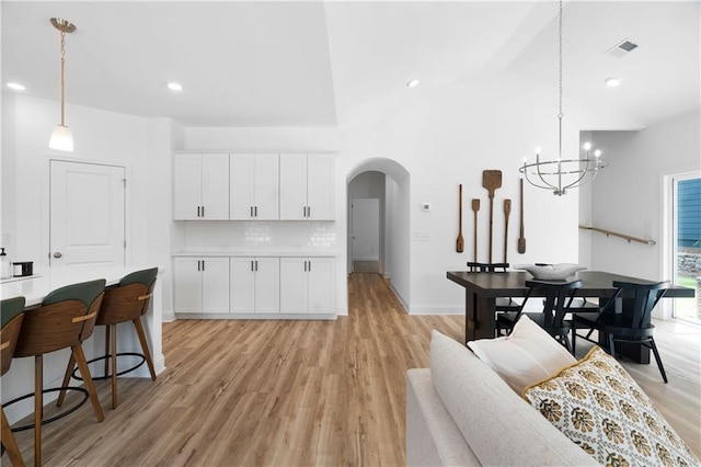
M 14 356 L 34 356 L 83 342 L 95 327 L 105 280 L 67 285 L 24 312 Z

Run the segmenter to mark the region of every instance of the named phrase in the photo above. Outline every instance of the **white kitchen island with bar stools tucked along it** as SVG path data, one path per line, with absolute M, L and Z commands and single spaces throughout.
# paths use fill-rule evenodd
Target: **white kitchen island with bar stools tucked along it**
M 42 300 L 48 293 L 59 287 L 80 282 L 104 278 L 106 285 L 116 285 L 122 277 L 135 272 L 153 267 L 153 265 L 138 266 L 53 266 L 53 267 L 35 267 L 35 274 L 27 277 L 13 277 L 0 282 L 0 298 L 11 298 L 23 296 L 26 299 L 26 307 L 32 308 L 42 304 Z M 159 276 L 164 270 L 159 267 Z M 165 369 L 165 358 L 162 349 L 162 288 L 160 281 L 157 280 L 151 299 L 151 307 L 143 316 L 142 322 L 146 330 L 147 339 L 151 355 L 153 356 L 153 366 L 156 373 L 159 374 Z M 130 323 L 127 323 L 130 326 Z M 125 330 L 126 331 L 126 330 Z M 140 352 L 138 340 L 134 332 L 118 332 L 117 348 L 119 352 Z M 104 331 L 99 327 L 93 335 L 83 343 L 83 350 L 88 360 L 104 353 Z M 47 354 L 45 356 L 44 380 L 45 387 L 60 386 L 66 365 L 70 356 L 69 351 L 59 351 Z M 125 362 L 128 365 L 130 362 Z M 122 364 L 120 364 L 122 366 Z M 130 366 L 130 365 L 129 365 Z M 148 369 L 140 367 L 129 373 L 126 377 L 149 377 Z M 13 399 L 20 395 L 31 392 L 34 388 L 34 365 L 31 358 L 16 358 L 12 363 L 10 372 L 2 377 L 1 394 L 2 401 Z M 48 402 L 50 398 L 46 398 Z M 32 401 L 27 403 L 16 403 L 8 408 L 5 414 L 10 419 L 10 423 L 22 417 L 33 412 Z

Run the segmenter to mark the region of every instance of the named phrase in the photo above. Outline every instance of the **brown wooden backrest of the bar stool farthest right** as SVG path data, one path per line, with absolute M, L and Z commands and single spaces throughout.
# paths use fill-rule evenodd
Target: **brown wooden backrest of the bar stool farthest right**
M 119 285 L 108 287 L 97 317 L 97 326 L 133 321 L 149 309 L 158 267 L 125 275 Z

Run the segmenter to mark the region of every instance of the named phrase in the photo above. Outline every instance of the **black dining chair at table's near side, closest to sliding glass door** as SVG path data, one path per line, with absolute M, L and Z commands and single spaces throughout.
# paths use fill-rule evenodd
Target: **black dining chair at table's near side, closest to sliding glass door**
M 575 312 L 572 319 L 572 345 L 576 348 L 576 339 L 591 340 L 594 331 L 604 334 L 607 342 L 607 351 L 612 356 L 617 356 L 617 343 L 632 343 L 646 346 L 653 351 L 657 368 L 665 383 L 667 374 L 662 363 L 655 338 L 653 337 L 655 326 L 652 323 L 653 309 L 660 298 L 665 296 L 669 288 L 669 282 L 658 282 L 653 284 L 635 284 L 630 282 L 613 281 L 617 287 L 616 294 L 607 301 L 601 312 Z M 617 300 L 630 300 L 628 309 L 620 312 L 616 310 Z M 586 335 L 577 334 L 578 329 L 588 329 Z M 602 339 L 599 337 L 599 342 Z

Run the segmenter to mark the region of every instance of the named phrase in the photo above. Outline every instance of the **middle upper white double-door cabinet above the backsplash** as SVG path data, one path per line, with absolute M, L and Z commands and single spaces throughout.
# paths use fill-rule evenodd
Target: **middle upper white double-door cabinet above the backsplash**
M 279 163 L 276 153 L 231 155 L 229 218 L 279 219 Z

